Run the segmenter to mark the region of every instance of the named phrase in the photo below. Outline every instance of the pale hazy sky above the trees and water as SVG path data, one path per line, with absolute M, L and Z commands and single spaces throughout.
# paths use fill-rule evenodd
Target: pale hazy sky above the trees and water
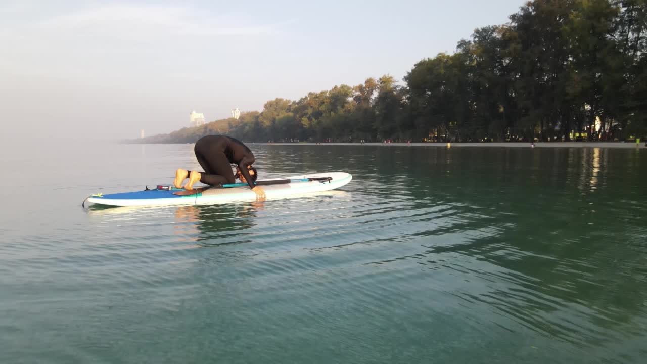
M 113 139 L 454 52 L 523 0 L 0 1 L 3 139 Z

